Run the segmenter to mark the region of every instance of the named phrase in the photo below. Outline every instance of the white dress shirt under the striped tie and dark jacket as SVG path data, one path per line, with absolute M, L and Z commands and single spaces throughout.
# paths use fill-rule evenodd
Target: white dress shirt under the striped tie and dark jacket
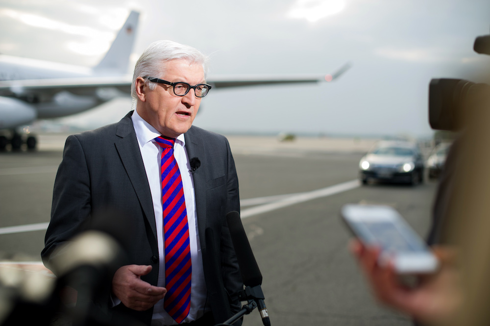
M 133 121 L 136 138 L 145 165 L 148 184 L 153 201 L 155 212 L 155 222 L 158 237 L 158 252 L 160 266 L 158 273 L 158 286 L 165 287 L 165 239 L 163 232 L 163 208 L 162 208 L 162 184 L 160 160 L 162 148 L 153 142 L 153 139 L 160 136 L 160 133 L 149 125 L 140 115 L 134 111 L 131 116 Z M 206 304 L 207 289 L 204 281 L 202 267 L 202 253 L 199 244 L 199 232 L 197 229 L 196 199 L 194 195 L 194 182 L 190 172 L 189 157 L 185 149 L 184 134 L 180 134 L 173 146 L 173 155 L 179 166 L 180 176 L 184 189 L 184 198 L 187 210 L 187 223 L 189 225 L 189 238 L 191 249 L 191 309 L 189 315 L 183 323 L 192 322 L 204 314 Z M 155 304 L 153 308 L 153 318 L 151 325 L 177 325 L 170 315 L 163 308 L 163 300 Z

